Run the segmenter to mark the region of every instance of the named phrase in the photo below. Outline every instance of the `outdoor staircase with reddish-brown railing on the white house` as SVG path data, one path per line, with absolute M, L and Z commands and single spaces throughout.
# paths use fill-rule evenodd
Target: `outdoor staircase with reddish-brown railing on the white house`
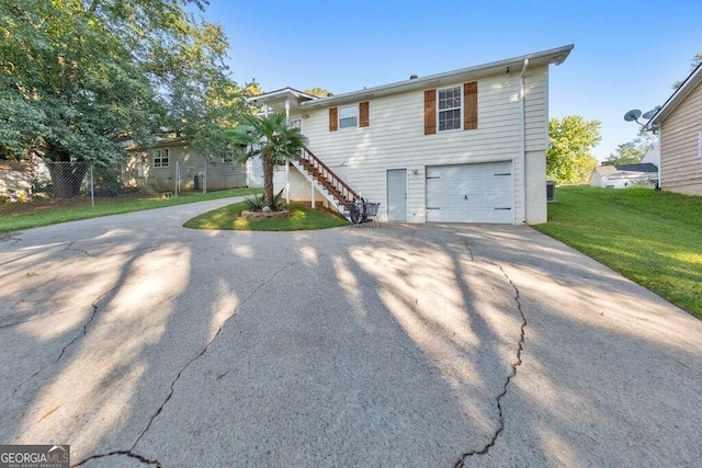
M 348 214 L 349 205 L 361 197 L 307 147 L 303 148 L 294 165 L 302 169 L 301 172 L 312 179 L 310 182 L 316 183 L 317 190 L 344 215 Z

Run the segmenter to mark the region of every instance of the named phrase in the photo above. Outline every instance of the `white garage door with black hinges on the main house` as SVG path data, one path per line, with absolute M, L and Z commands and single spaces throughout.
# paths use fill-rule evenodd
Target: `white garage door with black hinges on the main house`
M 512 162 L 427 168 L 427 221 L 512 224 Z

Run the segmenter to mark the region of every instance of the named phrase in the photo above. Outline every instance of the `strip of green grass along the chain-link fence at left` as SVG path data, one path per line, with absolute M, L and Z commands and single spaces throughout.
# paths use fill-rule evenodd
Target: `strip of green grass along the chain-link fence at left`
M 205 194 L 185 194 L 171 198 L 98 198 L 94 207 L 90 206 L 89 201 L 76 206 L 42 206 L 42 209 L 32 209 L 31 204 L 26 204 L 26 207 L 21 206 L 21 208 L 24 208 L 22 213 L 2 213 L 2 207 L 0 207 L 0 213 L 2 213 L 0 217 L 0 232 L 13 232 L 78 219 L 97 218 L 99 216 L 118 215 L 122 213 L 183 205 L 207 199 L 227 198 L 230 196 L 250 195 L 261 192 L 261 189 L 230 189 Z

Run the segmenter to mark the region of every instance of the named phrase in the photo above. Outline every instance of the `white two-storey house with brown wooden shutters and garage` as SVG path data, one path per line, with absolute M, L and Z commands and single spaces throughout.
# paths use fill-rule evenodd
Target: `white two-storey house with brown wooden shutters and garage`
M 545 222 L 548 65 L 571 49 L 326 98 L 253 96 L 309 139 L 275 190 L 336 207 L 362 195 L 392 221 Z

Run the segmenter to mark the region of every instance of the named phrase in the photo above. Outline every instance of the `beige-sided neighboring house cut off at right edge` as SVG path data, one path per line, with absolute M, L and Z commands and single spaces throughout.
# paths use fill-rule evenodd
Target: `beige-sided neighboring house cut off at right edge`
M 702 65 L 683 81 L 647 127 L 659 134 L 660 187 L 702 195 Z

